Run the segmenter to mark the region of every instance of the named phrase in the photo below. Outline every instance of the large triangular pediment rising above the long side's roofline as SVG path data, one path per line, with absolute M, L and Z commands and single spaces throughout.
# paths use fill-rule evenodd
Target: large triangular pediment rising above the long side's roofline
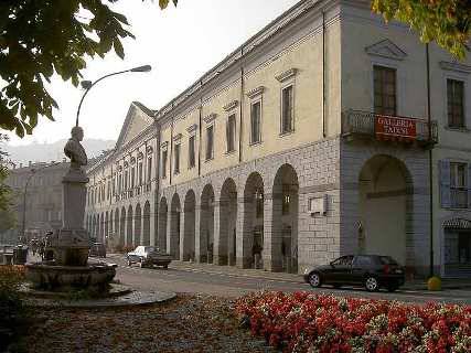
M 133 101 L 129 107 L 125 122 L 116 142 L 116 150 L 119 147 L 132 141 L 139 133 L 153 124 L 152 110 L 146 108 L 142 104 Z

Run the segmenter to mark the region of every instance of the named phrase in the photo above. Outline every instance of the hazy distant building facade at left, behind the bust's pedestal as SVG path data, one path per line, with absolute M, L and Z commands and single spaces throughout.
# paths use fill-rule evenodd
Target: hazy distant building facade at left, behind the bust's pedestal
M 11 233 L 15 239 L 31 240 L 62 227 L 62 178 L 68 168 L 68 162 L 53 161 L 10 169 L 6 183 L 13 193 L 17 226 Z

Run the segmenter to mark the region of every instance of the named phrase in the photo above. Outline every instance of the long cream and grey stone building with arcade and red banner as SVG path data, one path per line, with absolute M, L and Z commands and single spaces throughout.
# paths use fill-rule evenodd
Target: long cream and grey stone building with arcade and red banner
M 182 260 L 469 274 L 470 77 L 370 1 L 300 1 L 162 109 L 132 104 L 86 225 Z

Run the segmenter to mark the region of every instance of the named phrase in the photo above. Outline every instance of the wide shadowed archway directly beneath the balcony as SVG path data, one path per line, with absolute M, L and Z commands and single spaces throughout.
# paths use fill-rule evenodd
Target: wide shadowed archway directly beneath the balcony
M 388 154 L 370 158 L 358 175 L 357 252 L 388 255 L 414 266 L 414 183 L 403 161 Z

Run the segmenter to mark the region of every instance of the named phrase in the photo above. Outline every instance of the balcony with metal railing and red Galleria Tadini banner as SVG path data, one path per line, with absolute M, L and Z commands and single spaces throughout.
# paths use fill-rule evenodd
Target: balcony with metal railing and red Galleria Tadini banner
M 342 136 L 349 141 L 373 139 L 432 147 L 438 142 L 438 127 L 437 121 L 350 109 L 342 115 Z

